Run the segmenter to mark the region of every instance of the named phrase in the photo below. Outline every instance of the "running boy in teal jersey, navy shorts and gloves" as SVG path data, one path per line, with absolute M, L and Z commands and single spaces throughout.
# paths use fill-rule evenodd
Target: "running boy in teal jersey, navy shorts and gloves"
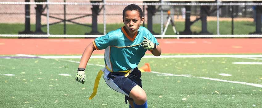
M 128 100 L 129 108 L 147 108 L 146 94 L 140 79 L 141 72 L 137 65 L 146 50 L 154 56 L 161 54 L 161 47 L 158 46 L 156 38 L 145 27 L 140 27 L 144 22 L 142 16 L 139 6 L 126 6 L 123 10 L 125 26 L 110 31 L 90 43 L 81 57 L 76 73 L 76 81 L 84 84 L 84 70 L 92 52 L 105 49 L 105 68 L 101 69 L 101 74 L 104 73 L 104 80 L 110 88 L 125 95 L 125 103 L 127 104 Z M 99 81 L 100 78 L 96 79 Z

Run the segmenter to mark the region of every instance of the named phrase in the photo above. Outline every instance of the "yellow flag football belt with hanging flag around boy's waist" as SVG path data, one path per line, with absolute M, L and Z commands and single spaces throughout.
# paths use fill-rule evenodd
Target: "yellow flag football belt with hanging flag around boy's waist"
M 110 71 L 110 72 L 113 72 L 111 69 L 109 69 L 107 66 L 105 66 L 105 68 Z M 133 69 L 132 69 L 133 70 Z M 123 73 L 126 73 L 124 76 L 125 77 L 128 77 L 129 74 L 132 72 L 131 70 L 127 70 L 127 71 L 118 71 L 118 72 L 123 72 Z M 91 94 L 91 96 L 88 98 L 89 100 L 91 100 L 92 98 L 94 98 L 96 96 L 96 92 L 97 92 L 97 88 L 98 88 L 98 84 L 99 84 L 99 81 L 100 81 L 100 78 L 102 76 L 104 72 L 102 70 L 99 70 L 99 72 L 97 73 L 96 75 L 96 80 L 95 80 L 95 84 L 94 84 L 94 88 L 93 88 L 93 93 Z

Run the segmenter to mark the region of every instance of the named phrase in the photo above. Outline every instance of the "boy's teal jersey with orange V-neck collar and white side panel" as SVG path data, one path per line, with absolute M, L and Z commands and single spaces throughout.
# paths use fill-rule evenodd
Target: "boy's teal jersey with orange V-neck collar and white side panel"
M 97 50 L 105 49 L 104 62 L 113 72 L 134 69 L 146 49 L 142 48 L 143 36 L 158 45 L 157 39 L 145 27 L 139 27 L 133 38 L 130 38 L 121 27 L 110 31 L 106 35 L 96 38 L 93 45 Z

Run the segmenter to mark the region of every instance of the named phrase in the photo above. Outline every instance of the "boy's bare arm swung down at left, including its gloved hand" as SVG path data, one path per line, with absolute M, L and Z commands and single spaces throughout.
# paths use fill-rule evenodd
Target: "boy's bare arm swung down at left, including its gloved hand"
M 84 50 L 84 53 L 81 57 L 79 66 L 78 66 L 78 70 L 76 72 L 76 81 L 84 84 L 85 82 L 85 68 L 86 68 L 86 64 L 89 60 L 89 58 L 91 57 L 93 51 L 96 50 L 95 46 L 93 45 L 93 43 L 90 43 Z

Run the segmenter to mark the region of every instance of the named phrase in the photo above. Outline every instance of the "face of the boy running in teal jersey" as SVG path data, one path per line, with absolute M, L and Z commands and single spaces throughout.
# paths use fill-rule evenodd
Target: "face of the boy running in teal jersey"
M 125 24 L 125 30 L 129 36 L 133 36 L 140 25 L 144 22 L 144 17 L 140 19 L 139 12 L 137 10 L 127 10 L 123 17 L 123 22 Z

